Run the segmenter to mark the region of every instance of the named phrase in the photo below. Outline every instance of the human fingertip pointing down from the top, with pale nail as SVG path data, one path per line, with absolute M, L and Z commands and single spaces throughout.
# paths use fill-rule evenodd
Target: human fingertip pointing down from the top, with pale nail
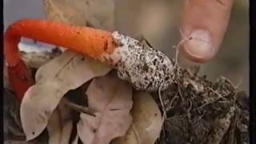
M 182 52 L 193 62 L 209 62 L 218 53 L 234 0 L 185 0 L 181 13 Z

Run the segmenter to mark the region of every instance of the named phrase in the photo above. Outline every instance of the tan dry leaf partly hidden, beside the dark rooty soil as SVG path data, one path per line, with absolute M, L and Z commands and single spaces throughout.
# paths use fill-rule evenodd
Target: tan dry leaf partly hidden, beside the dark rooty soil
M 134 122 L 126 135 L 116 138 L 112 144 L 154 144 L 162 130 L 162 116 L 152 96 L 136 92 L 131 113 Z

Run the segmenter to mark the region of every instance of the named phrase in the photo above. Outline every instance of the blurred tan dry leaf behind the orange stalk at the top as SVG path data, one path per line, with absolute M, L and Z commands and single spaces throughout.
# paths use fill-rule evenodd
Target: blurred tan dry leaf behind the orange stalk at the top
M 44 0 L 47 18 L 75 26 L 114 28 L 113 0 Z

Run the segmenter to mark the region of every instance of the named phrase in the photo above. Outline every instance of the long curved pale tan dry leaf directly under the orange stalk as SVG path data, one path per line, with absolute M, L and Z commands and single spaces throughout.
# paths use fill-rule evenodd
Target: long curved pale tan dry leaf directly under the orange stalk
M 36 84 L 26 91 L 21 103 L 21 121 L 26 139 L 33 139 L 42 133 L 50 114 L 68 90 L 74 90 L 109 71 L 108 66 L 69 50 L 41 66 L 36 74 Z

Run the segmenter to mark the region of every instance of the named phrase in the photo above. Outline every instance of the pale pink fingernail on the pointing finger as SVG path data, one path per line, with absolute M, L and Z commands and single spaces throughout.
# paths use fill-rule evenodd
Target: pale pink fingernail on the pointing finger
M 194 30 L 183 45 L 186 56 L 195 62 L 206 62 L 214 56 L 210 32 Z

